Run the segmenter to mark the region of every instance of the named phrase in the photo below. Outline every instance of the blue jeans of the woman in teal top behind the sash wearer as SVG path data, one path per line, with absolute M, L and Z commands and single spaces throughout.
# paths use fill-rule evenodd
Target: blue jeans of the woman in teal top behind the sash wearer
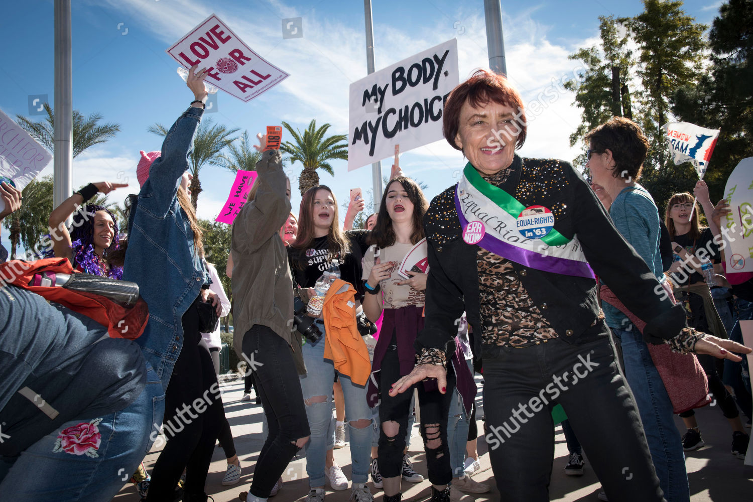
M 666 500 L 690 500 L 685 456 L 680 434 L 672 415 L 672 401 L 659 372 L 651 361 L 648 346 L 633 324 L 625 329 L 611 328 L 620 341 L 625 362 L 625 378 L 641 416 L 643 430 Z

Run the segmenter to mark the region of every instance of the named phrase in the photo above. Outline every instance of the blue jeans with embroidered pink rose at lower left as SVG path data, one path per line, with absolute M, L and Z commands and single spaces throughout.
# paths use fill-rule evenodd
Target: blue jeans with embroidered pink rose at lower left
M 147 368 L 146 387 L 130 406 L 103 417 L 66 422 L 22 452 L 0 483 L 3 500 L 112 500 L 149 452 L 160 431 L 165 394 L 157 373 L 151 365 L 147 364 Z M 96 457 L 80 449 L 66 451 L 64 442 L 81 431 L 82 424 L 88 425 L 95 441 L 99 434 L 99 448 L 95 452 L 90 449 Z M 72 429 L 66 431 L 69 427 Z M 58 443 L 62 449 L 55 452 Z

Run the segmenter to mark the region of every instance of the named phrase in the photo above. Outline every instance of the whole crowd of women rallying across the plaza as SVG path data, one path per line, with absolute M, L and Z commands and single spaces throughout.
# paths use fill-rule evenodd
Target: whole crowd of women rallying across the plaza
M 147 502 L 206 502 L 216 442 L 224 485 L 248 468 L 218 385 L 218 318 L 230 302 L 204 255 L 187 172 L 206 75 L 191 68 L 194 101 L 160 151 L 141 152 L 126 229 L 88 201 L 127 185 L 93 183 L 50 214 L 49 257 L 5 262 L 0 249 L 8 500 L 104 502 L 125 473 Z M 275 496 L 305 448 L 306 502 L 323 502 L 327 485 L 350 488 L 355 502 L 376 490 L 399 502 L 402 482 L 423 480 L 407 453 L 416 420 L 431 500 L 488 492 L 471 478 L 480 468 L 477 373 L 504 500 L 549 500 L 558 404 L 565 471 L 583 473 L 585 450 L 602 500 L 690 500 L 684 452 L 704 445 L 693 409 L 712 394 L 739 458 L 751 424 L 748 366 L 737 354 L 751 351 L 739 321 L 753 318 L 753 274 L 725 277 L 727 202 L 712 204 L 699 181 L 708 227 L 691 193 L 672 196 L 661 218 L 639 183 L 648 140 L 625 118 L 588 133 L 587 179 L 562 160 L 520 157 L 523 102 L 490 71 L 450 93 L 442 120 L 466 160 L 461 181 L 430 204 L 393 166 L 363 230 L 352 230 L 363 200 L 340 224 L 325 185 L 291 211 L 282 158 L 259 135 L 258 178 L 225 266 L 233 349 L 247 364 L 242 400 L 253 387 L 264 409 L 264 446 L 239 500 Z M 2 220 L 23 200 L 5 182 L 0 196 Z M 428 269 L 405 266 L 411 254 Z M 142 460 L 160 432 L 166 441 L 148 473 Z M 343 447 L 350 480 L 334 461 Z

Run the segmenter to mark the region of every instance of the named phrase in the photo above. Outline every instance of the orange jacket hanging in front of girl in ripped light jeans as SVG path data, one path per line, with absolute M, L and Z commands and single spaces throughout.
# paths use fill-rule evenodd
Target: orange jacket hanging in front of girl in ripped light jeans
M 325 359 L 356 385 L 366 385 L 371 373 L 369 351 L 355 324 L 355 288 L 349 282 L 334 281 L 322 307 L 324 312 Z

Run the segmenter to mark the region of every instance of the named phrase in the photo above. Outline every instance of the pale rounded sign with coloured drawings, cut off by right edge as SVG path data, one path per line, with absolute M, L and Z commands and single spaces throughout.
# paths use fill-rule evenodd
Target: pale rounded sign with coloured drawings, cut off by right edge
M 753 157 L 740 160 L 724 187 L 730 214 L 721 219 L 727 274 L 753 272 Z M 730 277 L 732 284 L 736 284 Z

